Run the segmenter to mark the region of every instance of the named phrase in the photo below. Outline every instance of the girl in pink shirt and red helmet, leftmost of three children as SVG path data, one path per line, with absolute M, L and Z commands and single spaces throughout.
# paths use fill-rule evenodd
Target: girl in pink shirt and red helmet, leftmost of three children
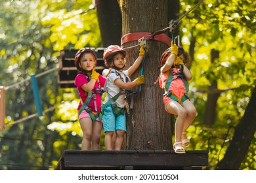
M 75 67 L 79 71 L 75 86 L 81 97 L 77 112 L 83 131 L 82 150 L 100 149 L 102 121 L 98 117 L 106 78 L 95 71 L 95 66 L 96 53 L 91 48 L 82 48 L 75 54 Z

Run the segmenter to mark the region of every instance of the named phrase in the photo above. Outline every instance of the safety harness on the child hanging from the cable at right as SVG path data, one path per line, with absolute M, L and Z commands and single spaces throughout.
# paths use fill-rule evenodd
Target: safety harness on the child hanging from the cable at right
M 174 101 L 177 101 L 179 103 L 183 103 L 184 101 L 186 101 L 186 99 L 189 99 L 189 97 L 187 95 L 188 90 L 189 90 L 188 82 L 187 82 L 186 78 L 184 77 L 184 75 L 182 75 L 181 72 L 174 73 L 173 69 L 174 69 L 174 67 L 172 67 L 169 70 L 170 73 L 169 73 L 167 79 L 164 80 L 164 82 L 166 82 L 166 83 L 165 83 L 165 87 L 164 87 L 165 93 L 163 94 L 163 96 L 167 96 L 170 99 L 173 99 Z M 186 93 L 181 97 L 181 99 L 179 99 L 179 97 L 177 97 L 177 95 L 173 94 L 171 91 L 168 91 L 169 87 L 171 86 L 171 82 L 173 82 L 174 80 L 177 80 L 177 78 L 181 78 L 182 79 L 182 82 L 184 83 L 185 90 L 186 90 Z

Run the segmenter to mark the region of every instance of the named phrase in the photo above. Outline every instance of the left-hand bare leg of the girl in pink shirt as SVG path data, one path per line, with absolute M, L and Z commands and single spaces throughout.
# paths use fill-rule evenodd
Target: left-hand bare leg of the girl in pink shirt
M 79 124 L 83 131 L 82 150 L 91 149 L 91 138 L 93 135 L 93 122 L 91 118 L 82 118 L 79 120 Z

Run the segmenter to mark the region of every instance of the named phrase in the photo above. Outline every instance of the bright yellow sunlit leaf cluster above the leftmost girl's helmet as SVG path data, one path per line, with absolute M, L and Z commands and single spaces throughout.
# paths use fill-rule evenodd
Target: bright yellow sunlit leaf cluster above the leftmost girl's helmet
M 77 49 L 85 45 L 98 46 L 100 33 L 96 14 L 90 11 L 83 14 L 82 10 L 89 8 L 89 2 L 85 4 L 77 10 L 56 9 L 42 19 L 43 25 L 51 26 L 50 40 L 54 43 L 54 50 L 63 50 L 70 44 Z

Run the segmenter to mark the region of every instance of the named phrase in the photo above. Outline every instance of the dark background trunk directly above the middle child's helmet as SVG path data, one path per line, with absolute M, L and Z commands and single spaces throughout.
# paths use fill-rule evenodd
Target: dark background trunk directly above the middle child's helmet
M 116 0 L 96 0 L 96 12 L 103 47 L 120 44 L 121 11 Z

